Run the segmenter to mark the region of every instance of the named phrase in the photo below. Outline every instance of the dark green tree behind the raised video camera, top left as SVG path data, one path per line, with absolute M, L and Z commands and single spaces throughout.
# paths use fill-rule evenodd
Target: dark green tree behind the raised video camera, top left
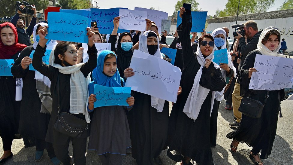
M 0 6 L 2 10 L 0 10 L 0 16 L 13 16 L 15 14 L 15 3 L 17 0 L 1 0 Z M 19 0 L 18 0 L 19 1 Z M 35 5 L 37 10 L 46 9 L 49 5 L 48 0 L 27 0 L 30 5 Z

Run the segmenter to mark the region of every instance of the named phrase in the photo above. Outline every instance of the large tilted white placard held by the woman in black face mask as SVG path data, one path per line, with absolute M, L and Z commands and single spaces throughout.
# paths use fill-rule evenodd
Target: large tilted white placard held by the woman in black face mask
M 181 70 L 166 60 L 134 50 L 130 68 L 134 76 L 128 77 L 125 87 L 131 90 L 176 102 Z

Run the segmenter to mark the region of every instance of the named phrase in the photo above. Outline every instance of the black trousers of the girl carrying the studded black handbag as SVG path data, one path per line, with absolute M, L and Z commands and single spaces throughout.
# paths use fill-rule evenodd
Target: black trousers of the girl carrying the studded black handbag
M 68 147 L 70 139 L 72 140 L 72 150 L 75 165 L 86 164 L 86 138 L 70 138 L 64 145 L 55 145 L 53 143 L 55 155 L 63 163 L 63 165 L 71 165 L 71 158 L 68 155 Z

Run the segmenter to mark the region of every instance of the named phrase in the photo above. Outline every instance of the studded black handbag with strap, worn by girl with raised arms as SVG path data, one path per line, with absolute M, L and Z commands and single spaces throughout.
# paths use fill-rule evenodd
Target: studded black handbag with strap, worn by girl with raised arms
M 83 131 L 88 129 L 88 123 L 74 115 L 67 112 L 60 112 L 60 100 L 59 100 L 59 75 L 57 77 L 57 100 L 58 100 L 58 119 L 54 124 L 54 129 L 60 133 L 73 138 L 79 138 Z

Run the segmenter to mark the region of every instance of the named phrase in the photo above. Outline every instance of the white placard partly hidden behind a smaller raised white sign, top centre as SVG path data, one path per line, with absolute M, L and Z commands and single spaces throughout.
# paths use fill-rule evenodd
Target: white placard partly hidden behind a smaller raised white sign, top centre
M 135 7 L 134 10 L 146 11 L 147 12 L 147 19 L 154 21 L 158 26 L 158 32 L 161 34 L 161 23 L 162 20 L 168 20 L 168 13 L 164 11 L 146 9 L 146 8 L 138 8 Z M 144 30 L 143 30 L 144 31 Z

